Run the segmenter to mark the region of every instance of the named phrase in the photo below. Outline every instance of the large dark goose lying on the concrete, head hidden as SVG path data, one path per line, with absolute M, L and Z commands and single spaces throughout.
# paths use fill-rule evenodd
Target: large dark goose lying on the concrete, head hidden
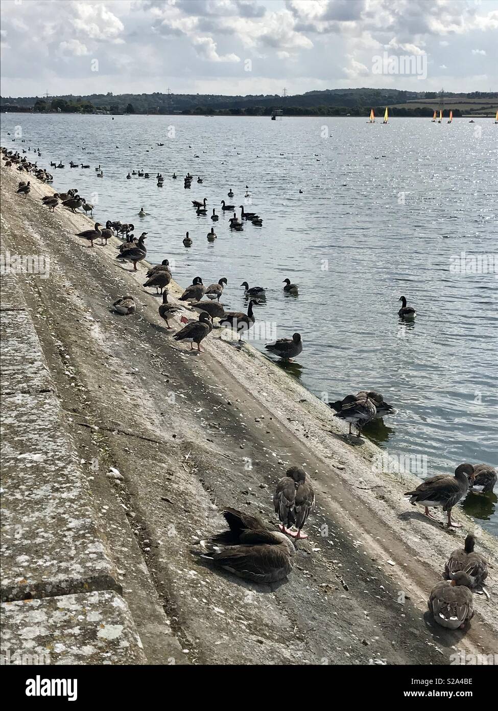
M 222 513 L 229 530 L 200 541 L 202 558 L 256 583 L 276 582 L 288 576 L 296 548 L 285 533 L 270 531 L 260 518 L 234 508 Z

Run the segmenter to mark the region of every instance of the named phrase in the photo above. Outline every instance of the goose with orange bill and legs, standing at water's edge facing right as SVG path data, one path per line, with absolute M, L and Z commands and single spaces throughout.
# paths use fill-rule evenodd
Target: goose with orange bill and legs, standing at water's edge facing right
M 423 481 L 413 491 L 406 491 L 405 496 L 410 496 L 410 503 L 415 506 L 420 503 L 425 506 L 424 515 L 433 520 L 438 520 L 429 513 L 429 506 L 442 506 L 443 511 L 448 513 L 448 528 L 462 528 L 460 523 L 453 523 L 451 520 L 451 510 L 461 498 L 469 491 L 469 480 L 474 479 L 474 467 L 472 464 L 459 464 L 455 469 L 455 476 L 438 474 Z

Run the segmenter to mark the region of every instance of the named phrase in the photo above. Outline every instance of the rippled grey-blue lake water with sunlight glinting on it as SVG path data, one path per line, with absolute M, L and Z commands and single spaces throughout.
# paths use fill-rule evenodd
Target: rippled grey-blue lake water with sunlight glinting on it
M 174 260 L 180 284 L 197 274 L 205 284 L 227 277 L 227 309 L 247 304 L 243 281 L 266 287 L 257 317 L 275 322 L 278 336 L 303 335 L 303 353 L 287 366 L 303 385 L 330 400 L 373 388 L 398 408 L 365 431 L 390 455 L 426 454 L 429 476 L 462 461 L 497 464 L 498 281 L 450 272 L 450 258 L 462 251 L 498 254 L 492 119 L 383 126 L 355 118 L 1 118 L 2 145 L 39 146 L 49 170 L 62 160 L 65 169 L 51 170 L 53 186 L 98 201 L 102 223 L 119 219 L 148 232 L 148 259 Z M 11 143 L 16 126 L 25 144 Z M 92 168 L 71 170 L 71 159 Z M 96 177 L 98 164 L 104 178 Z M 133 169 L 151 179 L 126 180 Z M 185 190 L 187 171 L 203 184 Z M 204 197 L 208 216 L 197 217 L 190 201 Z M 222 199 L 245 202 L 263 227 L 230 232 Z M 141 206 L 150 213 L 143 219 Z M 212 225 L 218 239 L 210 244 Z M 284 296 L 286 277 L 299 284 L 297 298 Z M 399 323 L 401 294 L 416 307 L 416 324 Z M 497 533 L 496 503 L 494 494 L 472 494 L 464 506 Z

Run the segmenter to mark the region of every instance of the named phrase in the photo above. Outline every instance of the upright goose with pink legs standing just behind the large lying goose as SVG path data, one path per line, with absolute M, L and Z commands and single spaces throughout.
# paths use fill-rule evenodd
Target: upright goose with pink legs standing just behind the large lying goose
M 301 529 L 304 528 L 306 519 L 315 506 L 313 486 L 305 480 L 304 469 L 291 466 L 286 471 L 286 476 L 278 481 L 274 495 L 275 513 L 281 520 L 278 528 L 283 533 L 296 538 L 308 538 L 306 533 L 301 533 Z M 290 530 L 293 525 L 297 531 Z

